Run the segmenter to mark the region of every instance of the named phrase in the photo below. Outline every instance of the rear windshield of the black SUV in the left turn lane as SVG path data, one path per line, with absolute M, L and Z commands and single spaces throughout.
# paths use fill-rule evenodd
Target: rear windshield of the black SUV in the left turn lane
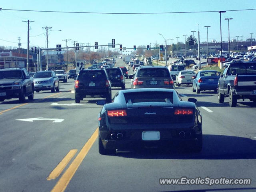
M 78 76 L 78 80 L 102 80 L 102 78 L 106 78 L 104 70 L 80 71 Z

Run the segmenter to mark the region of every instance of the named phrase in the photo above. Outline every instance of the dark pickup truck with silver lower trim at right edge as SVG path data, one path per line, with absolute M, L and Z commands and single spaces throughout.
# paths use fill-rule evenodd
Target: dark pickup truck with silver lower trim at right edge
M 256 102 L 256 62 L 228 64 L 218 80 L 217 92 L 218 102 L 228 97 L 230 107 L 235 107 L 239 99 Z

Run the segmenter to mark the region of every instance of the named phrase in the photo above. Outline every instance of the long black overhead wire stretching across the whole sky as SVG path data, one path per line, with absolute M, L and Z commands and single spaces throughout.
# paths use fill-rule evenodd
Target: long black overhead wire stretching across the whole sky
M 209 12 L 219 12 L 219 11 L 187 11 L 187 12 L 75 12 L 75 11 L 45 11 L 45 10 L 22 10 L 22 9 L 3 9 L 8 11 L 27 11 L 27 12 L 47 12 L 47 13 L 82 13 L 82 14 L 178 14 L 178 13 L 209 13 Z M 238 10 L 226 10 L 226 12 L 233 11 L 249 11 L 254 9 L 238 9 Z

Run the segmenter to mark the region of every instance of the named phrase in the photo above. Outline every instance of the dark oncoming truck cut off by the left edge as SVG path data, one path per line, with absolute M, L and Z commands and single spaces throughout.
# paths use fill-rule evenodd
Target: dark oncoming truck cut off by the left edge
M 34 99 L 33 78 L 25 68 L 6 68 L 0 70 L 0 101 L 19 98 L 25 102 L 25 97 Z

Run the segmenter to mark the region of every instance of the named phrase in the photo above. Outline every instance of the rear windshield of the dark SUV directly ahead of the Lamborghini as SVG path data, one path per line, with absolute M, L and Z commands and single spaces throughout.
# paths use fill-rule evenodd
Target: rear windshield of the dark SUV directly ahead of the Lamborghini
M 138 71 L 138 77 L 170 77 L 166 68 L 142 68 Z

